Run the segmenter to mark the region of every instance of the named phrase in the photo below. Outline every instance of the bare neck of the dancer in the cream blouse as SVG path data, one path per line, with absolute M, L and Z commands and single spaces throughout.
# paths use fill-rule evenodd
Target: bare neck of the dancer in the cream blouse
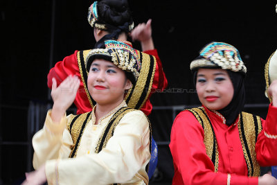
M 118 107 L 120 103 L 123 102 L 123 99 L 120 99 L 114 103 L 109 103 L 109 104 L 101 104 L 97 103 L 96 109 L 95 109 L 95 116 L 96 116 L 96 124 L 98 124 L 98 121 L 100 118 L 104 117 L 105 115 L 109 114 L 113 109 Z

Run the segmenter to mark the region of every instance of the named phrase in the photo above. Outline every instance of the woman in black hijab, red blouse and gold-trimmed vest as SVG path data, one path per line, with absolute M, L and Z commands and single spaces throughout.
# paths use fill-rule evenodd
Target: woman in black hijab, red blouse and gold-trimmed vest
M 277 164 L 277 80 L 267 119 L 242 112 L 247 72 L 234 46 L 212 42 L 190 63 L 202 107 L 179 113 L 172 125 L 172 184 L 277 184 L 260 166 Z

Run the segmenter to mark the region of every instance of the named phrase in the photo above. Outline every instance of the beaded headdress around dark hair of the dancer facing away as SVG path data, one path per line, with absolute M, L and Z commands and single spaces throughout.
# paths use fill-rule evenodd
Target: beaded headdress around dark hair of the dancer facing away
M 87 15 L 87 20 L 89 21 L 89 24 L 91 27 L 98 28 L 100 30 L 107 30 L 107 25 L 104 24 L 102 21 L 100 21 L 98 16 L 98 1 L 95 1 L 91 4 L 89 7 L 89 12 Z M 132 24 L 129 24 L 129 31 L 131 31 L 134 28 L 134 21 Z

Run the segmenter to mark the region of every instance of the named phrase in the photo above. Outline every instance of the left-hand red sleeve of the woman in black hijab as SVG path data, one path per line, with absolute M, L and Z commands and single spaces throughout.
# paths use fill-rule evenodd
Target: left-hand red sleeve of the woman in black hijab
M 206 155 L 204 130 L 192 113 L 178 114 L 170 138 L 175 166 L 172 184 L 227 184 L 228 174 L 214 172 L 213 162 Z M 231 174 L 231 184 L 258 184 L 258 177 Z

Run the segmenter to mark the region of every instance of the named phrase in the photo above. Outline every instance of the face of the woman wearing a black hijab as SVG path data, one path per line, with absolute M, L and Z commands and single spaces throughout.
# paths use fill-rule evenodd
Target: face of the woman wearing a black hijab
M 196 90 L 200 102 L 211 110 L 229 105 L 234 94 L 233 84 L 224 69 L 199 69 Z

